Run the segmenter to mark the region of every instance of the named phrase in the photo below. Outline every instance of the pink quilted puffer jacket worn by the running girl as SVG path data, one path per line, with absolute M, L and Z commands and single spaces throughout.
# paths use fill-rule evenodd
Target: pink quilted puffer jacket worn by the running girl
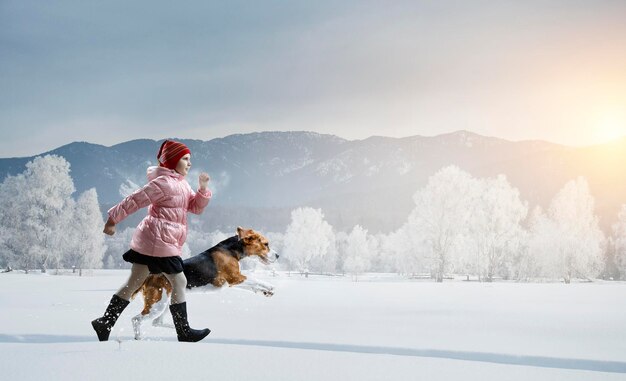
M 153 257 L 180 256 L 187 238 L 187 212 L 200 214 L 211 191 L 194 193 L 185 177 L 164 167 L 148 168 L 148 181 L 122 202 L 109 209 L 116 224 L 148 205 L 130 243 L 131 249 Z

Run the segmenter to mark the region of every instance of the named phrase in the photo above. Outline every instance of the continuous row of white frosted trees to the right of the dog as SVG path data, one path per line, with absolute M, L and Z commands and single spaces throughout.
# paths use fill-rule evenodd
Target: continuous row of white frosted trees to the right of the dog
M 626 205 L 606 237 L 582 177 L 565 184 L 546 210 L 529 213 L 505 176 L 477 179 L 449 166 L 413 200 L 407 221 L 389 234 L 358 225 L 333 233 L 321 210 L 295 210 L 285 257 L 301 271 L 397 272 L 437 282 L 454 274 L 487 282 L 626 279 Z

